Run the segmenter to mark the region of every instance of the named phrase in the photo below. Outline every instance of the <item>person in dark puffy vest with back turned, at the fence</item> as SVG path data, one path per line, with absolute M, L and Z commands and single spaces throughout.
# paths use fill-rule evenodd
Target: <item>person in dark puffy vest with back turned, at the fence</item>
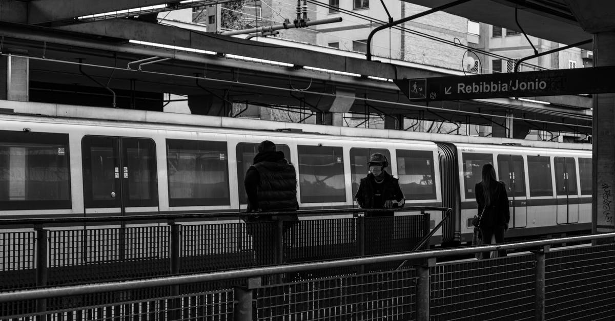
M 299 209 L 297 202 L 297 176 L 295 167 L 285 159 L 276 145 L 265 140 L 258 145 L 253 165 L 245 173 L 245 192 L 248 196 L 247 212 L 288 212 Z M 282 221 L 283 232 L 297 221 L 296 214 L 274 216 L 248 216 L 248 234 L 254 237 L 256 265 L 276 262 L 277 227 L 275 224 L 252 224 Z

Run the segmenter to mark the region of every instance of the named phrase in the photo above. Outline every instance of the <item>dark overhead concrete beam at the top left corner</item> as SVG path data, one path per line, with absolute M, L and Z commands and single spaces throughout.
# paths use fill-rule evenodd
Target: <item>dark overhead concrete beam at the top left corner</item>
M 39 0 L 28 3 L 28 23 L 57 22 L 83 15 L 166 4 L 170 0 Z M 2 1 L 0 1 L 0 4 Z

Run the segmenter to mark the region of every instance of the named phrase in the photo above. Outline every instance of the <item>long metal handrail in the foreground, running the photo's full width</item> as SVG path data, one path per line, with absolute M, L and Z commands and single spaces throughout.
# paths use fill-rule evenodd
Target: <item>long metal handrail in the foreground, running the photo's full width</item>
M 125 291 L 150 287 L 165 287 L 169 285 L 189 284 L 197 282 L 210 282 L 216 280 L 242 279 L 246 277 L 259 277 L 268 274 L 280 274 L 288 272 L 301 272 L 313 269 L 330 269 L 343 266 L 355 266 L 361 264 L 382 263 L 387 261 L 417 260 L 426 258 L 440 258 L 443 256 L 467 255 L 477 252 L 508 250 L 513 248 L 542 247 L 545 245 L 561 244 L 568 242 L 582 242 L 594 239 L 614 238 L 614 233 L 592 234 L 586 236 L 560 237 L 557 239 L 535 240 L 530 242 L 518 242 L 509 244 L 482 245 L 475 247 L 450 248 L 442 250 L 428 250 L 421 252 L 379 255 L 365 258 L 351 258 L 335 261 L 321 261 L 314 263 L 288 264 L 269 267 L 255 267 L 250 269 L 237 269 L 231 271 L 200 273 L 191 275 L 175 275 L 159 277 L 156 279 L 130 280 L 123 282 L 106 282 L 89 285 L 73 285 L 68 287 L 41 288 L 34 290 L 20 290 L 0 293 L 0 303 L 20 301 L 28 299 L 52 298 L 54 296 L 84 295 L 91 293 L 103 293 L 109 291 Z

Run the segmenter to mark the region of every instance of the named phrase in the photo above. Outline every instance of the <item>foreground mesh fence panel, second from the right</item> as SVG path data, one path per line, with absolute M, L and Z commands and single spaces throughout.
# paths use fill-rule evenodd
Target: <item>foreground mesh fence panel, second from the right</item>
M 534 256 L 431 267 L 432 320 L 533 320 Z

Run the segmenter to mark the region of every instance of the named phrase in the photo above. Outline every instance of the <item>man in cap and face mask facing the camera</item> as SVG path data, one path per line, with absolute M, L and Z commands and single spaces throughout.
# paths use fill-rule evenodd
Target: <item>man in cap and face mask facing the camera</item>
M 361 208 L 403 207 L 405 199 L 397 178 L 389 175 L 384 168 L 389 161 L 381 153 L 371 154 L 367 163 L 370 173 L 361 178 L 359 190 L 354 198 Z M 365 215 L 365 254 L 390 253 L 395 231 L 394 212 L 367 213 Z

